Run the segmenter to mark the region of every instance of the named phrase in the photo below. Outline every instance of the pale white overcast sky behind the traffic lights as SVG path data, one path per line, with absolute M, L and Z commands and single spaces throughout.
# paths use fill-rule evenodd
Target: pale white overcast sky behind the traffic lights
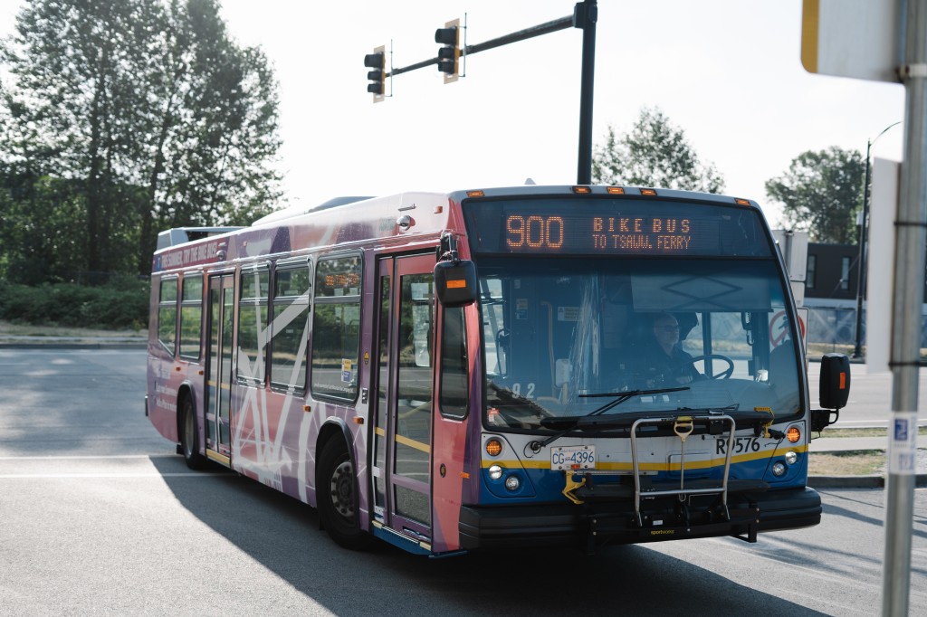
M 259 46 L 275 70 L 290 204 L 576 183 L 581 30 L 473 54 L 450 84 L 435 66 L 400 74 L 376 104 L 362 61 L 385 44 L 392 66 L 406 67 L 437 56 L 434 32 L 451 19 L 465 16 L 466 43 L 479 44 L 572 15 L 574 1 L 220 2 L 236 42 Z M 0 0 L 0 36 L 20 6 Z M 801 0 L 600 0 L 595 144 L 659 107 L 725 193 L 756 199 L 779 226 L 765 183 L 794 157 L 832 145 L 865 155 L 904 119 L 900 84 L 806 72 L 801 26 Z M 900 160 L 903 138 L 903 124 L 890 129 L 872 156 Z

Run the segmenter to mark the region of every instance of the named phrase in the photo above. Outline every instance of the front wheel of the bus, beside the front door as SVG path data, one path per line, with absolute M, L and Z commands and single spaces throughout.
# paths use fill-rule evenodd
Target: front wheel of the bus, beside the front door
M 358 489 L 348 447 L 339 438 L 329 439 L 319 457 L 319 518 L 337 545 L 361 550 L 372 536 L 362 531 L 358 516 Z

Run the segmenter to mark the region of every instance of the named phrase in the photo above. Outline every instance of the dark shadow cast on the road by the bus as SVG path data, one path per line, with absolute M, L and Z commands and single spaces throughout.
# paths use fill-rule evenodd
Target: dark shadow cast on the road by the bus
M 646 546 L 472 554 L 429 560 L 386 544 L 357 553 L 319 529 L 316 510 L 229 472 L 209 490 L 152 464 L 185 509 L 300 593 L 338 615 L 820 614 Z M 232 593 L 235 593 L 234 591 Z

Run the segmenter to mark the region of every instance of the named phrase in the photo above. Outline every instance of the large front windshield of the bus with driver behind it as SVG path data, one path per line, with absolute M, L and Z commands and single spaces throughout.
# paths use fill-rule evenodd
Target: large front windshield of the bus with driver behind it
M 486 422 L 677 409 L 800 411 L 771 258 L 482 257 Z M 545 420 L 547 422 L 545 422 Z

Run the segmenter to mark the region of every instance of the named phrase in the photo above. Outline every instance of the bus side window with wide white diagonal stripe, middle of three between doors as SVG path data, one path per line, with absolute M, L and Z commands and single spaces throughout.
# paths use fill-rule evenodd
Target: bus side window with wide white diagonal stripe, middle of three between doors
M 310 280 L 305 259 L 295 267 L 277 264 L 273 273 L 271 385 L 299 391 L 305 387 Z

